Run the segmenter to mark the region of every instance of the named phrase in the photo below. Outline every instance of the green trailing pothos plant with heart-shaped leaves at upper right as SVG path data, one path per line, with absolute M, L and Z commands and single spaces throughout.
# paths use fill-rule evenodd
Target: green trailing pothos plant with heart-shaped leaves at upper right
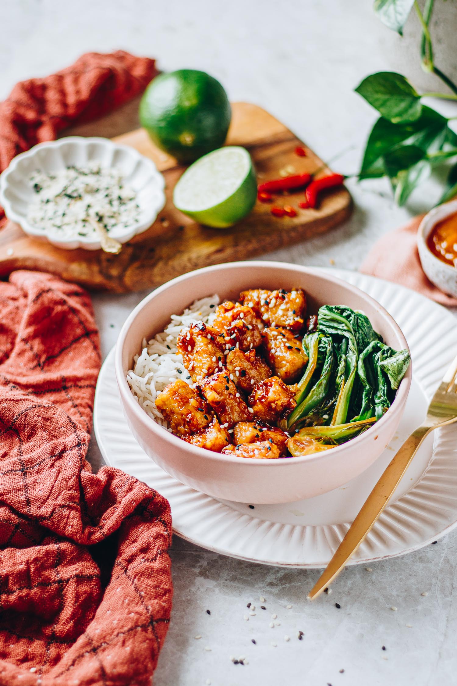
M 356 88 L 381 115 L 369 134 L 358 178 L 387 176 L 399 205 L 436 165 L 457 157 L 457 134 L 449 128 L 450 120 L 422 103 L 423 97 L 430 96 L 457 101 L 457 85 L 434 63 L 429 31 L 433 5 L 434 0 L 425 0 L 422 11 L 417 0 L 375 0 L 374 9 L 381 21 L 400 35 L 410 12 L 417 12 L 422 27 L 421 66 L 436 74 L 452 93 L 418 93 L 404 76 L 390 71 L 371 74 Z M 439 202 L 456 195 L 457 163 L 449 170 Z

